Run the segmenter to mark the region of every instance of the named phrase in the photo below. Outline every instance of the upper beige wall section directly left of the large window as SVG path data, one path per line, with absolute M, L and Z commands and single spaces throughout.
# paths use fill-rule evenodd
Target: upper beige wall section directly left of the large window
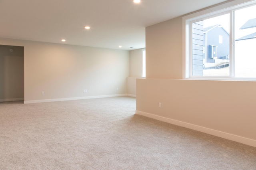
M 146 78 L 182 79 L 182 17 L 146 28 Z

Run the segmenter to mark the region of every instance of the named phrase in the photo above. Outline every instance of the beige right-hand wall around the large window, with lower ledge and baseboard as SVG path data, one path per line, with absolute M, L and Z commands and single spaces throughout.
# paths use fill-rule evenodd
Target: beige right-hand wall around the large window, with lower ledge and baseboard
M 182 17 L 147 27 L 146 49 L 137 114 L 256 146 L 255 81 L 182 80 Z

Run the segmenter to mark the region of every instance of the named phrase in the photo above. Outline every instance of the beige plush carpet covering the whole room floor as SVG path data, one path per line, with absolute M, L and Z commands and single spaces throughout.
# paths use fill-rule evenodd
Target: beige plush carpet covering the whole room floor
M 256 148 L 134 115 L 135 105 L 0 103 L 0 169 L 256 170 Z

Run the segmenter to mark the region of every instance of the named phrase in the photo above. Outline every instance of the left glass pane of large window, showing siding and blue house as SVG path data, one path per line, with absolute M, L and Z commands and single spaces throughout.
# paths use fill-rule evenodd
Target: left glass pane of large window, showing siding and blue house
M 192 23 L 192 75 L 228 76 L 230 14 Z

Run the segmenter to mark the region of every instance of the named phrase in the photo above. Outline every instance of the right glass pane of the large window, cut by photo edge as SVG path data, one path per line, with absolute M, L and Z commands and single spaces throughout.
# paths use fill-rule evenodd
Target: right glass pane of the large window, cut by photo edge
M 256 6 L 235 11 L 235 77 L 256 77 Z

